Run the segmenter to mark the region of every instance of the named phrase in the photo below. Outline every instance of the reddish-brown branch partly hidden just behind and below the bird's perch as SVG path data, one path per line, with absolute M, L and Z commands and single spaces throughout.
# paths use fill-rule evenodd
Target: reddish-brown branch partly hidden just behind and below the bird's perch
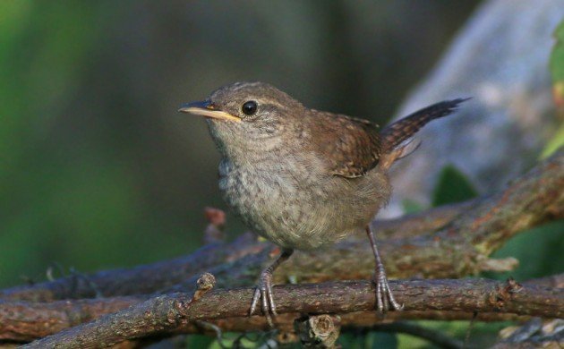
M 56 302 L 0 302 L 0 341 L 29 342 L 145 301 L 146 297 L 126 296 Z M 294 319 L 299 317 L 300 314 L 294 312 L 282 314 L 277 318 L 277 328 L 283 332 L 292 331 Z M 346 328 L 363 328 L 397 319 L 468 320 L 472 317 L 472 312 L 464 311 L 397 311 L 390 312 L 382 319 L 375 311 L 359 311 L 343 314 L 341 324 Z M 529 318 L 506 312 L 481 312 L 477 320 L 520 321 Z M 262 316 L 214 319 L 209 322 L 226 332 L 269 330 Z M 201 333 L 202 330 L 194 323 L 176 329 L 179 333 Z

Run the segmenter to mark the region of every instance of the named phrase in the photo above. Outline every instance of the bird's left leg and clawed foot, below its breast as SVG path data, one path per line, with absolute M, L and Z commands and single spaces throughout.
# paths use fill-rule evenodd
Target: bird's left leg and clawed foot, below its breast
M 254 296 L 252 297 L 251 310 L 249 311 L 249 316 L 254 313 L 257 303 L 261 300 L 261 310 L 264 316 L 269 322 L 269 326 L 274 327 L 272 322 L 272 315 L 278 315 L 276 312 L 276 305 L 274 304 L 274 299 L 272 298 L 272 273 L 280 264 L 285 260 L 290 258 L 294 253 L 294 250 L 282 250 L 278 259 L 274 263 L 270 264 L 268 268 L 265 268 L 261 272 L 261 278 L 259 279 L 259 285 L 257 285 L 254 291 Z

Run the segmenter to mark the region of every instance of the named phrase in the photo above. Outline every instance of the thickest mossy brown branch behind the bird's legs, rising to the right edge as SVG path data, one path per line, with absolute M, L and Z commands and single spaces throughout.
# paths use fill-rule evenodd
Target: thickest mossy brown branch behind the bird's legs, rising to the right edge
M 383 222 L 387 239 L 380 242 L 380 249 L 389 276 L 464 277 L 514 267 L 515 260 L 490 260 L 488 256 L 514 234 L 564 217 L 562 187 L 564 150 L 496 194 L 433 209 L 427 216 L 422 213 Z M 379 225 L 375 223 L 377 231 Z M 443 227 L 438 232 L 428 233 L 439 226 Z M 208 270 L 218 277 L 220 286 L 249 285 L 272 257 L 271 246 L 245 234 L 233 243 L 211 244 L 176 260 L 6 289 L 0 292 L 0 299 L 47 302 L 94 297 L 96 291 L 103 296 L 187 291 L 193 289 L 197 275 Z M 278 283 L 290 277 L 318 282 L 367 278 L 372 272 L 370 247 L 354 236 L 334 249 L 295 253 L 276 275 Z

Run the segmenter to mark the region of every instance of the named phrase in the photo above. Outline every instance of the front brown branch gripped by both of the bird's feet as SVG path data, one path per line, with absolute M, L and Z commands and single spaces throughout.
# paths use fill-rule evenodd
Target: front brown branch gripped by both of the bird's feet
M 564 316 L 564 289 L 484 279 L 395 281 L 390 287 L 406 311 L 504 311 L 521 315 Z M 151 298 L 124 311 L 64 330 L 29 347 L 93 347 L 126 339 L 175 332 L 191 321 L 244 317 L 253 288 L 212 291 L 193 300 L 187 294 Z M 277 310 L 301 313 L 373 311 L 374 289 L 366 281 L 275 287 Z

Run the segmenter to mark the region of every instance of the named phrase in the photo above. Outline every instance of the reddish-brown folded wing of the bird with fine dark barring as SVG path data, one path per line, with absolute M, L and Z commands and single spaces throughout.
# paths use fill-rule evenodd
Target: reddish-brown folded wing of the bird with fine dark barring
M 346 115 L 316 114 L 315 150 L 330 174 L 356 178 L 378 165 L 381 141 L 376 124 Z

